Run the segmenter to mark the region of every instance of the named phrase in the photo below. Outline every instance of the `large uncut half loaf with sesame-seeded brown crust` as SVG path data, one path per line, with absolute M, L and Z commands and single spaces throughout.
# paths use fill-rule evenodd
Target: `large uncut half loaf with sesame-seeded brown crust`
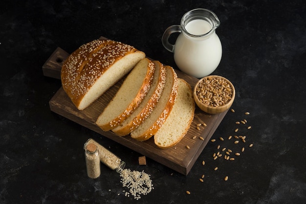
M 74 105 L 84 110 L 145 56 L 144 52 L 117 41 L 88 42 L 63 63 L 63 88 Z

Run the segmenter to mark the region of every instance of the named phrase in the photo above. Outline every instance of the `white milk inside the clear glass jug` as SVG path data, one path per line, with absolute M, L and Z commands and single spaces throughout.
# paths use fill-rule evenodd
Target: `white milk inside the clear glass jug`
M 208 33 L 212 26 L 205 20 L 192 20 L 185 29 L 193 35 Z M 218 67 L 222 56 L 222 46 L 215 31 L 205 37 L 190 37 L 182 32 L 176 42 L 174 59 L 178 68 L 188 75 L 202 78 L 210 75 Z

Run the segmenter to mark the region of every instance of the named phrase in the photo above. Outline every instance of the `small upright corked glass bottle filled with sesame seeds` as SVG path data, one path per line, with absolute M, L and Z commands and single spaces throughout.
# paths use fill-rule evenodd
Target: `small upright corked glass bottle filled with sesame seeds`
M 85 148 L 85 161 L 87 176 L 91 179 L 96 179 L 100 176 L 100 157 L 97 146 L 90 143 Z

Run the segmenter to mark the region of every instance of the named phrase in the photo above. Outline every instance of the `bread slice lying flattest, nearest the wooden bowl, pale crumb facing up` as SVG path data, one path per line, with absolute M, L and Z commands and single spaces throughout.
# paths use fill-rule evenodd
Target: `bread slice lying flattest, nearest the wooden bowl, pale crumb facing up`
M 195 115 L 195 101 L 190 85 L 178 79 L 175 104 L 166 122 L 154 134 L 154 143 L 162 149 L 177 144 L 187 133 Z

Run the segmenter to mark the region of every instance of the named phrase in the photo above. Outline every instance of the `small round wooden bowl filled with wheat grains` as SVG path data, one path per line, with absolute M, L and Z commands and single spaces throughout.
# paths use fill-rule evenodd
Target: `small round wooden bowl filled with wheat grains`
M 217 80 L 221 85 L 217 85 Z M 204 85 L 201 92 L 204 96 L 200 96 L 199 92 L 197 93 L 197 89 L 203 83 L 215 84 L 210 87 Z M 222 88 L 223 84 L 223 88 Z M 225 86 L 225 87 L 224 87 Z M 199 87 L 200 89 L 200 87 Z M 217 94 L 218 93 L 218 94 Z M 230 95 L 231 93 L 231 95 Z M 223 97 L 222 100 L 225 102 L 221 102 L 220 95 Z M 197 106 L 206 113 L 209 114 L 217 114 L 228 110 L 234 102 L 235 99 L 235 87 L 234 85 L 224 77 L 211 75 L 200 79 L 194 88 L 194 99 L 197 103 Z M 200 101 L 203 100 L 203 101 Z M 216 101 L 214 101 L 214 99 Z M 225 99 L 225 100 L 224 100 Z

